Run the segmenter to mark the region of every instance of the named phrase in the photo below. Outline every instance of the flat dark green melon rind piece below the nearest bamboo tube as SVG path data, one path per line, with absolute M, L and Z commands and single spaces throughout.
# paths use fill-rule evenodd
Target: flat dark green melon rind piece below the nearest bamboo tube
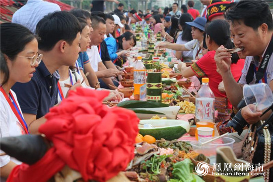
M 154 107 L 169 107 L 169 104 L 153 101 L 142 101 L 142 100 L 127 100 L 120 102 L 117 106 L 123 108 L 154 108 Z

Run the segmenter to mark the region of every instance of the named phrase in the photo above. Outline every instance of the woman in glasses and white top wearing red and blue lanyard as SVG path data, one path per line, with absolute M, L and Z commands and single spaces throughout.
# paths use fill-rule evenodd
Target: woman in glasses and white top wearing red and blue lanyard
M 38 54 L 35 36 L 22 25 L 2 23 L 0 37 L 0 137 L 28 134 L 20 105 L 11 87 L 16 82 L 29 82 L 43 55 Z M 7 155 L 0 156 L 1 182 L 17 164 L 20 162 Z

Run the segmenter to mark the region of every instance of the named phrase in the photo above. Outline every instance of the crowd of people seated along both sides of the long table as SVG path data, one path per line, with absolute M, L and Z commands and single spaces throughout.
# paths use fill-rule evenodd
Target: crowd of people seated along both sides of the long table
M 93 1 L 91 12 L 67 12 L 51 2 L 28 0 L 11 23 L 0 25 L 0 137 L 38 133 L 49 109 L 78 87 L 108 90 L 105 100 L 122 100 L 123 93 L 109 85 L 119 85 L 120 67 L 136 46 L 134 24 L 161 32 L 165 41 L 157 47 L 174 51 L 183 77 L 209 78 L 220 134 L 234 132 L 226 124 L 243 98 L 245 84 L 263 82 L 273 90 L 273 15 L 264 0 L 201 0 L 201 13 L 189 0 L 181 11 L 174 2 L 145 14 L 125 11 L 117 0 L 113 12 L 103 13 Z M 241 51 L 228 53 L 233 47 Z M 263 76 L 257 77 L 264 61 Z M 186 67 L 186 62 L 193 65 Z M 249 124 L 269 117 L 261 115 L 242 109 Z M 240 156 L 240 141 L 237 146 Z M 18 164 L 0 156 L 1 180 Z

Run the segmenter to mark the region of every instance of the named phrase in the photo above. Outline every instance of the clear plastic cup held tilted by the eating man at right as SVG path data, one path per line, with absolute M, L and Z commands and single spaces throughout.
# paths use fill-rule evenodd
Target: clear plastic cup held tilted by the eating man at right
M 273 104 L 273 93 L 267 84 L 244 85 L 243 94 L 245 102 L 252 112 L 262 111 Z

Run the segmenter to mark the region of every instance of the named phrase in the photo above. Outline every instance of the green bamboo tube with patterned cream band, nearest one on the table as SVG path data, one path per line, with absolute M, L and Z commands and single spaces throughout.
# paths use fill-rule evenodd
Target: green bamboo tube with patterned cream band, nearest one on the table
M 162 81 L 161 72 L 147 72 L 147 101 L 161 102 Z

